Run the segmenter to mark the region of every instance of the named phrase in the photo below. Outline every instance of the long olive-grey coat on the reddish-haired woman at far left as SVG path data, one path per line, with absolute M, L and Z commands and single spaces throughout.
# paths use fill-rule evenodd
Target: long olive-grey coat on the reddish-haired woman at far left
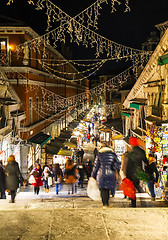
M 15 161 L 8 162 L 5 167 L 6 173 L 6 189 L 11 191 L 17 190 L 19 187 L 19 182 L 23 182 L 24 179 L 21 175 L 19 165 Z

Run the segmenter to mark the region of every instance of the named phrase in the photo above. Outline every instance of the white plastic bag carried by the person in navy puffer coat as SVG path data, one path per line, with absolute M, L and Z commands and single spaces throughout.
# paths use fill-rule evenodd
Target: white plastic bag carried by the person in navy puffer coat
M 87 185 L 87 195 L 94 201 L 100 201 L 100 190 L 98 188 L 97 182 L 94 178 L 89 178 Z

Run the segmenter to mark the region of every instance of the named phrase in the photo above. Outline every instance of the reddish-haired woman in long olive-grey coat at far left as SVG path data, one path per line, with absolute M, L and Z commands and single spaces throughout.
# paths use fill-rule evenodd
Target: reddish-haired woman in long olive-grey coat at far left
M 11 200 L 9 202 L 14 203 L 16 191 L 19 188 L 19 182 L 25 183 L 14 155 L 10 155 L 7 159 L 7 165 L 5 166 L 5 174 L 6 189 L 8 189 L 11 194 Z

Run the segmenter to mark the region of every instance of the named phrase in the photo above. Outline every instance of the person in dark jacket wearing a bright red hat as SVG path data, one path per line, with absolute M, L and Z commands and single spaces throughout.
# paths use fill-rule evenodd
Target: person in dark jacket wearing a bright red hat
M 130 179 L 139 193 L 143 193 L 143 188 L 139 185 L 139 176 L 144 173 L 145 165 L 148 165 L 145 151 L 138 145 L 136 137 L 129 138 L 129 144 L 132 151 L 128 153 L 128 162 L 126 168 L 126 178 Z M 136 198 L 131 199 L 131 207 L 136 207 Z

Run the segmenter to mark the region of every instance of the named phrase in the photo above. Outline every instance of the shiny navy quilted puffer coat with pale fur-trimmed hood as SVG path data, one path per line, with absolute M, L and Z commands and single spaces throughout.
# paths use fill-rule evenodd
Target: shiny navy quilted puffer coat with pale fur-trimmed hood
M 116 186 L 115 171 L 120 169 L 120 161 L 111 148 L 103 147 L 96 157 L 91 177 L 98 182 L 99 189 L 111 189 Z

